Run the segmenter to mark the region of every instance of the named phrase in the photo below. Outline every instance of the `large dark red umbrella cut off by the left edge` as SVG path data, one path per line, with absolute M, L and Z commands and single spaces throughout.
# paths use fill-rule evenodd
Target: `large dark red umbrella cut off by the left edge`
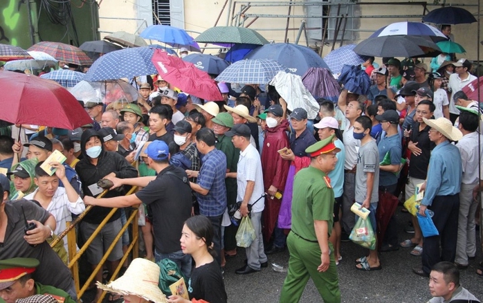
M 92 122 L 59 84 L 34 75 L 0 71 L 0 120 L 14 124 L 75 129 Z

